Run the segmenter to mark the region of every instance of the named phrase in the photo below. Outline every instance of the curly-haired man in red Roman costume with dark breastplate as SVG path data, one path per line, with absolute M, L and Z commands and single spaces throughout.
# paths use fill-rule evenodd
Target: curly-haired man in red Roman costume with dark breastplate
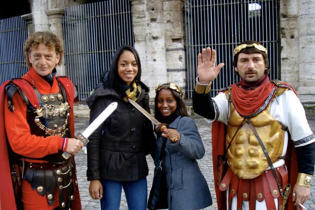
M 68 77 L 56 77 L 60 39 L 36 32 L 24 52 L 30 70 L 0 87 L 1 210 L 81 209 L 73 159 L 83 147 L 73 138 L 77 92 Z

